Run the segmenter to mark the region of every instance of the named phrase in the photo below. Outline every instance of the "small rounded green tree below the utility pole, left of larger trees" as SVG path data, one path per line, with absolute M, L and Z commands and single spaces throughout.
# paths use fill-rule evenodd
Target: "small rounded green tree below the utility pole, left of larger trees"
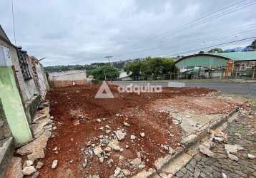
M 94 79 L 97 80 L 112 80 L 114 78 L 118 78 L 120 73 L 116 68 L 113 68 L 112 66 L 101 66 L 99 68 L 95 68 L 92 70 L 92 75 Z

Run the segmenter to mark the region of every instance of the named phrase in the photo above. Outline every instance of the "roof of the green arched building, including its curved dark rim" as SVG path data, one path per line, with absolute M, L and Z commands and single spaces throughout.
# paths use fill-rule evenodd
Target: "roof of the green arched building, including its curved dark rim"
M 248 51 L 248 52 L 232 52 L 232 53 L 202 53 L 202 54 L 193 54 L 190 56 L 184 56 L 183 58 L 179 58 L 179 60 L 174 63 L 179 63 L 186 58 L 197 57 L 197 56 L 210 56 L 210 57 L 219 57 L 225 60 L 231 61 L 256 61 L 256 51 Z

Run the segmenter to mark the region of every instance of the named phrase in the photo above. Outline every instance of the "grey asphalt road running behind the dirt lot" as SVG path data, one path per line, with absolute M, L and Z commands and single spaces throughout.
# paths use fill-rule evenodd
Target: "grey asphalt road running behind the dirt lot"
M 117 85 L 162 85 L 168 86 L 166 81 L 115 81 Z M 249 98 L 256 98 L 256 83 L 185 83 L 186 87 L 202 87 L 202 88 L 213 88 L 222 91 L 223 93 L 230 93 L 235 95 L 242 95 Z

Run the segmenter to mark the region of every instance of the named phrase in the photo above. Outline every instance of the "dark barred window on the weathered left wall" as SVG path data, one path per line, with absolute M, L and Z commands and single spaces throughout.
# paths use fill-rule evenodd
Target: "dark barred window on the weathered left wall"
M 19 58 L 19 66 L 21 68 L 21 73 L 24 80 L 31 80 L 32 77 L 29 72 L 29 64 L 26 61 L 26 51 L 22 51 L 21 48 L 18 48 L 17 53 Z

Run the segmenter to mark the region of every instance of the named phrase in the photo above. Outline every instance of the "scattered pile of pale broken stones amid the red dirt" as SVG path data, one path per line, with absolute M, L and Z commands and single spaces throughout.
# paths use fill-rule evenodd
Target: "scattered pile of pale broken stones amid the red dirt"
M 118 114 L 117 114 L 118 115 Z M 119 115 L 118 115 L 119 116 Z M 97 122 L 101 122 L 100 119 Z M 97 158 L 100 164 L 106 164 L 107 167 L 114 167 L 114 174 L 110 177 L 130 177 L 133 174 L 137 173 L 139 170 L 142 170 L 145 166 L 146 162 L 149 162 L 147 157 L 149 156 L 148 152 L 140 151 L 137 152 L 137 157 L 134 159 L 129 159 L 121 155 L 124 152 L 124 149 L 129 149 L 129 142 L 125 142 L 124 138 L 129 137 L 129 140 L 133 143 L 136 140 L 145 139 L 145 132 L 140 132 L 139 135 L 129 135 L 126 132 L 126 128 L 131 127 L 128 122 L 123 122 L 123 128 L 118 128 L 118 130 L 112 130 L 109 125 L 105 125 L 104 127 L 100 127 L 100 130 L 104 130 L 106 135 L 99 135 L 99 137 L 94 138 L 87 142 L 86 148 L 82 148 L 81 151 L 84 152 L 84 162 L 82 163 L 82 167 L 87 170 L 87 177 L 99 177 L 99 174 L 89 174 L 90 169 L 90 160 L 93 158 Z M 125 145 L 122 148 L 120 145 Z M 165 152 L 173 153 L 172 147 L 168 145 L 159 145 L 162 147 L 162 150 Z M 162 152 L 162 150 L 160 150 Z M 117 153 L 118 162 L 115 163 L 112 159 L 112 152 Z M 146 162 L 142 161 L 145 160 Z

